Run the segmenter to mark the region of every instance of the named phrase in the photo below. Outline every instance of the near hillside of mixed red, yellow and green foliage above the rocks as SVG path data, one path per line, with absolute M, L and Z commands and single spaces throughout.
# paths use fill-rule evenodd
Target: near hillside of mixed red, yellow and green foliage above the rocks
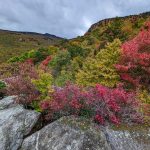
M 13 77 L 5 81 L 16 102 L 46 120 L 78 115 L 149 125 L 150 13 L 100 21 L 82 37 L 14 56 L 0 70 L 1 78 Z

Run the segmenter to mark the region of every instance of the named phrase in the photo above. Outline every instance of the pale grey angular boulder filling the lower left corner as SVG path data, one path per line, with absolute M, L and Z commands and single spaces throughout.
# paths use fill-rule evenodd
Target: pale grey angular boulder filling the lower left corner
M 17 150 L 40 115 L 14 104 L 13 99 L 7 97 L 0 100 L 0 150 Z

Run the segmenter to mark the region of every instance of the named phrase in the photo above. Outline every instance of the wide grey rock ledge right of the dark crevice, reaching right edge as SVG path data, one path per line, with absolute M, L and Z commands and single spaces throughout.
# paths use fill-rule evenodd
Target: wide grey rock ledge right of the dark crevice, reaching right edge
M 27 137 L 20 150 L 150 150 L 150 129 L 100 128 L 86 119 L 63 117 Z

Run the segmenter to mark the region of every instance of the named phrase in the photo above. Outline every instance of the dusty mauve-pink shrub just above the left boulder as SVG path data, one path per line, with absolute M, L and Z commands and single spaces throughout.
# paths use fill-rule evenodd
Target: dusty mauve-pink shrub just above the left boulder
M 21 64 L 17 76 L 5 80 L 8 95 L 17 95 L 16 102 L 30 105 L 39 96 L 39 92 L 31 83 L 31 78 L 37 78 L 37 72 L 29 63 Z

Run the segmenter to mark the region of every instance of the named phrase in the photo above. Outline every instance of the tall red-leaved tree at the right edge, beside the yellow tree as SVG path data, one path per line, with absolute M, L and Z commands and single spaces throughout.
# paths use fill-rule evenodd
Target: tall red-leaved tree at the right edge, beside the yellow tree
M 150 22 L 133 40 L 122 45 L 122 57 L 116 69 L 132 87 L 150 88 Z

